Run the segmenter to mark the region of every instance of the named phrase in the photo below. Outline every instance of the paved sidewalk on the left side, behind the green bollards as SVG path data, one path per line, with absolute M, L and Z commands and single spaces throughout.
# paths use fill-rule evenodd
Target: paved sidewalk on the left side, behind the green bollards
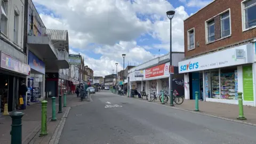
M 54 129 L 54 123 L 50 123 L 50 119 L 52 117 L 52 101 L 51 98 L 46 99 L 47 103 L 47 121 L 49 126 L 48 130 Z M 72 106 L 78 106 L 85 103 L 84 101 L 79 101 L 76 98 L 76 94 L 68 94 L 67 95 L 67 108 Z M 62 106 L 63 106 L 63 97 L 62 97 Z M 67 109 L 62 107 L 63 113 Z M 57 111 L 57 118 L 60 119 L 63 113 L 58 114 L 59 110 L 59 99 L 56 99 L 56 111 Z M 26 110 L 17 110 L 24 113 L 22 117 L 22 143 L 33 143 L 37 140 L 37 136 L 39 135 L 39 131 L 41 129 L 41 103 L 34 103 L 33 105 L 27 106 Z M 11 117 L 10 116 L 1 116 L 0 117 L 0 144 L 7 144 L 11 143 Z M 58 121 L 56 122 L 58 124 Z M 49 134 L 51 137 L 51 134 Z M 42 138 L 41 138 L 42 139 Z M 45 140 L 46 141 L 46 140 Z M 37 142 L 40 143 L 40 142 Z

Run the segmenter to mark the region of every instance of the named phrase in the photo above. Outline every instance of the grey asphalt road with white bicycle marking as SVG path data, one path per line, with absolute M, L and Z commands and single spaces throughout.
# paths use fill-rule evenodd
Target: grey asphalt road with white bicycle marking
M 174 109 L 108 91 L 93 94 L 92 100 L 69 110 L 59 143 L 249 144 L 256 141 L 255 126 L 191 113 L 189 106 L 187 111 L 185 106 L 184 110 Z M 187 101 L 182 103 L 187 104 Z M 204 110 L 202 105 L 199 103 L 199 108 Z

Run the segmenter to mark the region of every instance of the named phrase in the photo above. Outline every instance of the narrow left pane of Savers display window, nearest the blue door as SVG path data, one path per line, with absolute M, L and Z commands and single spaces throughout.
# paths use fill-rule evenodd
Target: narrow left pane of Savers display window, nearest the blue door
M 212 78 L 212 97 L 213 99 L 220 98 L 220 83 L 219 83 L 219 71 L 212 71 L 211 72 Z

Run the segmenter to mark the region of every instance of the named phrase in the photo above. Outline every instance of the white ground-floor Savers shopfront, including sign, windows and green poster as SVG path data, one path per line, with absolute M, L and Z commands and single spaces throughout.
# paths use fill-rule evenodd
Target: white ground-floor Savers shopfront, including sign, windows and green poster
M 254 51 L 249 43 L 180 61 L 185 99 L 194 99 L 198 91 L 204 101 L 237 104 L 237 92 L 243 92 L 244 105 L 255 106 Z

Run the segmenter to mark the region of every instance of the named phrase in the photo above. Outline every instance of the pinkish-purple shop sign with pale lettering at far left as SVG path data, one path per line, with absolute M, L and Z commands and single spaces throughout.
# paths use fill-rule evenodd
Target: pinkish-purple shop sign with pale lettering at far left
M 1 68 L 30 75 L 30 66 L 1 51 Z

